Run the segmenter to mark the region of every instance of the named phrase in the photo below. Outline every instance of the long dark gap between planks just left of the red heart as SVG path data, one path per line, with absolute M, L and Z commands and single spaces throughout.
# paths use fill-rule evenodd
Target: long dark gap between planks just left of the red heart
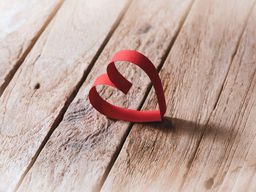
M 64 1 L 64 0 L 63 0 Z M 63 4 L 63 1 L 61 2 L 61 4 Z M 121 23 L 122 18 L 124 18 L 125 13 L 127 12 L 127 9 L 129 8 L 129 5 L 132 3 L 132 0 L 127 1 L 127 4 L 124 6 L 124 9 L 120 12 L 120 15 L 118 16 L 116 22 L 113 24 L 113 27 L 110 29 L 110 31 L 108 32 L 108 35 L 105 37 L 104 41 L 102 42 L 102 45 L 99 47 L 99 50 L 97 50 L 97 53 L 94 55 L 94 58 L 92 58 L 91 63 L 88 66 L 88 69 L 83 73 L 83 77 L 82 79 L 78 82 L 78 85 L 75 85 L 75 90 L 72 92 L 72 94 L 69 96 L 69 98 L 67 99 L 67 101 L 64 104 L 64 107 L 61 109 L 61 111 L 59 112 L 59 115 L 57 116 L 56 120 L 54 120 L 53 125 L 50 127 L 50 131 L 48 132 L 48 134 L 45 136 L 45 139 L 43 139 L 42 144 L 39 146 L 37 153 L 35 153 L 34 157 L 31 158 L 31 162 L 29 164 L 29 166 L 26 168 L 25 172 L 23 173 L 23 175 L 20 177 L 20 180 L 18 182 L 18 184 L 15 187 L 15 192 L 18 191 L 18 188 L 20 187 L 21 183 L 23 182 L 24 178 L 26 177 L 26 174 L 29 172 L 29 170 L 31 169 L 31 167 L 34 165 L 34 162 L 37 160 L 37 157 L 39 155 L 39 153 L 42 151 L 43 147 L 45 147 L 45 144 L 48 142 L 48 139 L 50 138 L 51 134 L 53 134 L 53 131 L 59 126 L 59 123 L 61 123 L 61 121 L 64 118 L 64 114 L 67 111 L 67 108 L 69 107 L 69 104 L 71 104 L 71 102 L 73 101 L 73 99 L 75 99 L 75 96 L 77 95 L 80 87 L 83 85 L 83 82 L 85 82 L 86 77 L 88 76 L 88 74 L 91 72 L 92 67 L 94 66 L 95 62 L 97 61 L 97 59 L 99 58 L 100 53 L 102 53 L 102 50 L 104 49 L 105 45 L 107 45 L 109 39 L 112 37 L 114 31 L 116 31 L 116 28 L 118 27 L 119 23 Z M 58 9 L 56 9 L 56 12 L 54 12 L 53 17 L 56 15 L 56 13 L 58 12 L 59 8 L 61 7 L 61 5 L 58 7 Z M 52 17 L 52 18 L 53 18 Z M 51 18 L 51 19 L 52 19 Z M 50 20 L 48 20 L 48 22 L 46 22 L 47 25 L 44 25 L 46 28 L 48 26 L 48 24 L 50 23 Z M 43 31 L 43 30 L 42 30 Z M 42 34 L 42 31 L 40 34 Z M 40 36 L 39 34 L 39 36 Z M 38 37 L 39 37 L 38 36 Z M 37 39 L 38 39 L 37 37 Z M 36 41 L 35 41 L 36 42 Z M 34 42 L 34 44 L 35 44 Z M 33 46 L 34 46 L 33 44 Z M 33 47 L 32 46 L 32 47 Z M 31 48 L 32 48 L 31 47 Z M 31 49 L 30 49 L 31 50 Z M 30 51 L 29 50 L 29 51 Z M 29 52 L 28 52 L 29 53 Z M 25 57 L 26 58 L 26 57 Z M 21 61 L 21 63 L 24 61 L 24 59 Z M 17 71 L 17 69 L 16 69 Z M 10 82 L 10 81 L 9 81 Z M 6 86 L 7 87 L 7 86 Z M 0 95 L 1 96 L 1 95 Z M 102 183 L 103 185 L 103 183 Z

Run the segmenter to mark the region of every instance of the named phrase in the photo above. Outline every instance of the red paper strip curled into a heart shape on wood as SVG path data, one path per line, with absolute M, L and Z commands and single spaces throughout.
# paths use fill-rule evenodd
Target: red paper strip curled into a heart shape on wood
M 137 111 L 116 107 L 108 103 L 97 93 L 96 85 L 110 85 L 127 94 L 132 87 L 132 83 L 124 78 L 116 69 L 115 61 L 128 61 L 129 63 L 140 66 L 151 80 L 157 93 L 159 110 L 154 111 Z M 102 114 L 116 120 L 128 120 L 132 122 L 150 122 L 162 120 L 166 111 L 165 94 L 162 88 L 157 69 L 154 64 L 146 58 L 145 55 L 134 50 L 121 50 L 116 53 L 107 67 L 107 73 L 99 75 L 89 91 L 89 99 L 92 106 Z

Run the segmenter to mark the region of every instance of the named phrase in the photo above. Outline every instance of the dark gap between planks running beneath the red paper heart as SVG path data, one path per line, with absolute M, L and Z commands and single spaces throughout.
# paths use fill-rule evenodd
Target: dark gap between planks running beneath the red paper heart
M 190 10 L 191 10 L 191 8 L 192 8 L 192 5 L 193 5 L 194 1 L 195 1 L 195 0 L 192 0 L 191 3 L 189 4 L 189 7 L 188 7 L 188 9 L 187 9 L 187 12 L 184 14 L 183 18 L 181 19 L 181 24 L 180 24 L 180 26 L 178 26 L 178 30 L 177 30 L 176 33 L 174 34 L 173 39 L 171 39 L 171 41 L 170 41 L 170 43 L 169 43 L 169 45 L 168 45 L 168 47 L 167 47 L 167 50 L 166 50 L 164 56 L 162 57 L 162 61 L 160 62 L 159 66 L 157 67 L 157 72 L 158 72 L 158 73 L 159 73 L 160 70 L 162 69 L 162 66 L 165 64 L 165 60 L 166 60 L 167 56 L 169 55 L 170 50 L 172 49 L 174 43 L 176 42 L 176 39 L 177 39 L 177 37 L 178 37 L 178 34 L 179 34 L 179 32 L 181 31 L 181 28 L 182 28 L 182 26 L 184 25 L 185 20 L 187 19 L 187 15 L 189 15 L 189 12 L 190 12 Z M 160 78 L 161 78 L 161 77 L 160 77 Z M 151 88 L 152 88 L 152 83 L 150 83 L 150 85 L 148 85 L 148 88 L 146 89 L 146 93 L 145 93 L 145 95 L 143 96 L 143 100 L 141 101 L 140 106 L 138 107 L 138 110 L 141 110 L 141 108 L 143 107 L 143 104 L 145 103 L 146 98 L 147 98 L 147 96 L 148 96 L 148 93 L 149 93 L 149 91 L 151 91 Z M 127 132 L 126 132 L 126 134 L 124 135 L 124 138 L 122 139 L 122 142 L 121 142 L 120 147 L 118 147 L 118 149 L 116 150 L 116 153 L 115 153 L 113 159 L 111 159 L 110 164 L 108 165 L 107 169 L 105 170 L 105 174 L 104 174 L 104 176 L 103 176 L 103 180 L 102 180 L 102 182 L 100 183 L 99 191 L 101 191 L 102 186 L 104 185 L 105 180 L 107 179 L 108 174 L 110 173 L 110 170 L 112 169 L 113 165 L 115 164 L 116 159 L 118 158 L 118 155 L 119 155 L 119 153 L 121 152 L 121 149 L 122 149 L 123 146 L 124 146 L 124 142 L 127 140 L 127 137 L 128 137 L 128 135 L 129 135 L 129 132 L 132 130 L 132 126 L 134 126 L 134 124 L 135 124 L 135 123 L 131 123 L 131 124 L 129 125 L 129 127 L 127 128 Z M 199 146 L 199 145 L 198 145 L 198 146 Z

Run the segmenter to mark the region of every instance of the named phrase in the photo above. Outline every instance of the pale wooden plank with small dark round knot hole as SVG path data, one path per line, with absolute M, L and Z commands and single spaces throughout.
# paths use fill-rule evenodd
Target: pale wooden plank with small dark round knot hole
M 34 163 L 126 6 L 64 1 L 1 96 L 0 191 L 12 191 Z

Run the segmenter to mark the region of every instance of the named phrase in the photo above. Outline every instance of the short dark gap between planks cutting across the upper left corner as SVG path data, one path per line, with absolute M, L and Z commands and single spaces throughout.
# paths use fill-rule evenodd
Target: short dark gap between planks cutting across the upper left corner
M 17 72 L 17 70 L 19 69 L 21 64 L 23 64 L 23 61 L 25 61 L 26 56 L 29 54 L 31 49 L 36 44 L 36 42 L 39 39 L 39 37 L 41 36 L 42 32 L 45 31 L 45 28 L 49 25 L 49 23 L 53 20 L 53 18 L 55 17 L 57 12 L 61 8 L 61 5 L 63 4 L 63 2 L 64 2 L 64 0 L 61 0 L 60 3 L 57 5 L 57 7 L 55 7 L 53 12 L 50 13 L 50 17 L 48 18 L 48 20 L 45 21 L 45 23 L 42 25 L 42 28 L 39 29 L 39 31 L 37 32 L 35 37 L 32 39 L 32 41 L 29 44 L 29 46 L 26 48 L 24 53 L 18 59 L 18 61 L 16 62 L 15 66 L 13 66 L 13 68 L 7 74 L 7 77 L 4 79 L 4 83 L 0 87 L 0 97 L 1 97 L 2 93 L 4 93 L 5 88 L 7 88 L 7 85 L 9 85 L 10 81 L 12 80 L 12 77 L 15 75 L 15 73 Z M 21 50 L 21 52 L 22 52 L 22 50 Z

